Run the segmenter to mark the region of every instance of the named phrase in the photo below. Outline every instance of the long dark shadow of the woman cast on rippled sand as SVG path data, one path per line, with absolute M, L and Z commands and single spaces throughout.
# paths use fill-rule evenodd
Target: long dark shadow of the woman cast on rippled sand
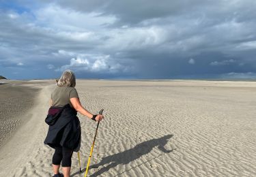
M 172 152 L 173 150 L 165 149 L 165 144 L 167 144 L 168 140 L 172 137 L 173 137 L 173 135 L 165 135 L 161 138 L 156 138 L 156 139 L 148 140 L 146 142 L 142 142 L 142 143 L 134 146 L 134 148 L 130 148 L 129 150 L 119 152 L 115 155 L 103 157 L 102 161 L 100 161 L 100 163 L 91 165 L 89 167 L 89 169 L 90 168 L 98 168 L 98 167 L 104 165 L 104 167 L 102 167 L 100 170 L 98 170 L 94 174 L 91 174 L 91 176 L 100 176 L 100 174 L 103 174 L 104 172 L 109 171 L 109 169 L 116 167 L 119 164 L 125 165 L 125 164 L 130 163 L 131 161 L 139 159 L 139 157 L 146 155 L 156 146 L 162 152 L 165 152 L 165 153 Z M 106 164 L 109 164 L 109 165 L 106 165 Z M 85 169 L 83 169 L 82 172 L 85 172 Z M 72 176 L 74 176 L 76 174 L 79 174 L 79 172 L 72 174 Z

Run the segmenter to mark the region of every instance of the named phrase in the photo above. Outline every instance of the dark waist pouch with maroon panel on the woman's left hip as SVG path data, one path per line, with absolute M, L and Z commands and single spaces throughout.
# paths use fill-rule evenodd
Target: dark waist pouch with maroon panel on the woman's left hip
M 66 104 L 63 107 L 55 107 L 51 106 L 48 110 L 48 114 L 45 118 L 45 123 L 48 125 L 55 125 L 56 121 L 58 120 L 59 116 L 61 116 L 61 112 L 65 109 L 70 107 L 69 104 Z

